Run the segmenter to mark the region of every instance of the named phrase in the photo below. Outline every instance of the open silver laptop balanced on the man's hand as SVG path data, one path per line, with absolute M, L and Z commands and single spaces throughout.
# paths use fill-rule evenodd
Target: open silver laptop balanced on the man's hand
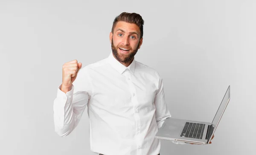
M 155 137 L 158 139 L 181 141 L 185 143 L 209 144 L 229 101 L 230 86 L 227 88 L 212 123 L 170 117 L 166 118 Z

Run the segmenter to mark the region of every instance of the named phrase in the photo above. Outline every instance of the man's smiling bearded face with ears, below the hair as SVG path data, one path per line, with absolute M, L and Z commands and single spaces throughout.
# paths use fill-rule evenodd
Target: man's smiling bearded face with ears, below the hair
M 129 63 L 142 44 L 140 28 L 136 24 L 119 21 L 109 35 L 113 55 L 121 63 Z

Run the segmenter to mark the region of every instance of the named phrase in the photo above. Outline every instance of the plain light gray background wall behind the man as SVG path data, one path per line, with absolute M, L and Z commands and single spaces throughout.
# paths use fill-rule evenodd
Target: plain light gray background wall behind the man
M 84 67 L 109 55 L 112 22 L 123 11 L 145 20 L 135 58 L 163 77 L 174 118 L 211 122 L 231 85 L 212 144 L 161 140 L 160 154 L 254 154 L 255 0 L 0 0 L 0 154 L 91 154 L 87 113 L 61 138 L 53 100 L 65 62 Z

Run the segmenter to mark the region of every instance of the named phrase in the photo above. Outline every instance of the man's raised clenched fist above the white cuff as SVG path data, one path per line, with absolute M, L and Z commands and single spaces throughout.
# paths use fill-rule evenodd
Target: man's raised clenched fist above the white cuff
M 77 63 L 77 60 L 64 63 L 62 66 L 62 85 L 61 91 L 67 93 L 72 88 L 72 83 L 75 81 L 78 71 L 81 69 L 82 63 Z

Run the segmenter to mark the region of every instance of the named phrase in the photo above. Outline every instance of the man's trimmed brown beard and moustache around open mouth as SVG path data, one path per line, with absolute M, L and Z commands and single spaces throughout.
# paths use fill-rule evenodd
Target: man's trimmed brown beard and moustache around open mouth
M 132 48 L 130 46 L 118 46 L 118 47 L 116 46 L 115 47 L 113 44 L 113 38 L 112 38 L 111 48 L 112 48 L 113 55 L 116 57 L 116 59 L 119 62 L 127 63 L 127 62 L 131 62 L 133 60 L 135 54 L 137 53 L 137 51 L 139 49 L 139 45 L 140 45 L 140 42 L 138 43 L 136 49 L 134 49 L 134 50 L 132 50 Z M 126 48 L 126 49 L 129 49 L 131 52 L 128 55 L 119 54 L 117 51 L 119 48 Z

